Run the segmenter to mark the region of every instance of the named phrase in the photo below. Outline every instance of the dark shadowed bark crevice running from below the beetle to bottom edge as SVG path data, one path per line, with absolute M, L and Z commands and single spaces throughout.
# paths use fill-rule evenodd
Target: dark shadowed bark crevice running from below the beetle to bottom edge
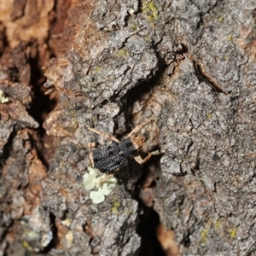
M 143 154 L 143 157 L 147 153 Z M 137 234 L 141 236 L 141 247 L 139 255 L 167 255 L 160 244 L 158 237 L 158 229 L 160 227 L 160 218 L 157 212 L 154 211 L 154 188 L 157 185 L 157 177 L 160 173 L 160 158 L 161 155 L 153 155 L 150 160 L 143 165 L 139 165 L 133 159 L 128 160 L 128 165 L 121 168 L 122 173 L 126 177 L 126 182 L 130 180 L 135 182 L 132 188 L 128 188 L 133 199 L 138 201 L 138 212 L 143 212 L 140 215 L 140 222 L 137 225 Z M 119 174 L 117 173 L 117 176 Z M 123 181 L 124 182 L 124 181 Z

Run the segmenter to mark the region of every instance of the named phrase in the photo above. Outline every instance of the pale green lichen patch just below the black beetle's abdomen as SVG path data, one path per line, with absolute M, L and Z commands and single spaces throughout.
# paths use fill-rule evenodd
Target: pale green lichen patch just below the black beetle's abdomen
M 90 192 L 90 199 L 94 204 L 102 203 L 105 197 L 112 192 L 116 183 L 115 177 L 108 177 L 106 173 L 101 174 L 91 167 L 88 167 L 88 173 L 84 174 L 84 188 L 87 190 L 95 189 Z

